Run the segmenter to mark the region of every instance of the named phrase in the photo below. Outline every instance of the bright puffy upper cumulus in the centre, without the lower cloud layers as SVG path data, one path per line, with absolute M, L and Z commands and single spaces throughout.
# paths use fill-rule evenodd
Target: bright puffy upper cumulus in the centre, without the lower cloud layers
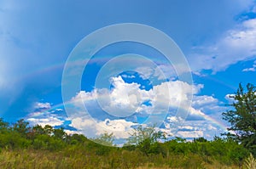
M 125 117 L 134 113 L 165 114 L 170 107 L 189 110 L 192 94 L 198 93 L 201 85 L 189 85 L 186 82 L 162 82 L 149 91 L 140 89 L 137 83 L 125 83 L 121 76 L 111 79 L 113 89 L 95 89 L 92 92 L 81 91 L 72 99 L 80 109 L 91 104 L 99 104 L 109 115 Z M 149 104 L 145 104 L 145 103 Z M 90 112 L 89 112 L 90 113 Z

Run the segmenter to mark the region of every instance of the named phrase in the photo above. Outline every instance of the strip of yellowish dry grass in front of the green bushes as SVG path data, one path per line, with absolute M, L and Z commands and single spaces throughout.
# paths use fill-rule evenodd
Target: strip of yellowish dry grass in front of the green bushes
M 239 168 L 218 161 L 204 161 L 200 155 L 143 155 L 141 152 L 117 150 L 108 155 L 87 154 L 82 151 L 59 151 L 33 149 L 3 149 L 0 153 L 0 168 Z

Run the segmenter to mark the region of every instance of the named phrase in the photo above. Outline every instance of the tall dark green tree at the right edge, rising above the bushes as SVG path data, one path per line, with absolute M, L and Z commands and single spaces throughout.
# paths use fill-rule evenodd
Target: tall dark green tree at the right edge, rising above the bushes
M 234 109 L 224 112 L 223 118 L 230 122 L 228 130 L 232 133 L 226 135 L 235 138 L 256 155 L 256 87 L 248 83 L 245 90 L 239 84 L 236 94 L 230 98 L 234 99 L 231 104 Z

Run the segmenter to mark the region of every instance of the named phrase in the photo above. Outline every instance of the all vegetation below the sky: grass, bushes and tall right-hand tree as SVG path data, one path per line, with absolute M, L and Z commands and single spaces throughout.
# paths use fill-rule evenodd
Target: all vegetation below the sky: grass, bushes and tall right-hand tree
M 125 146 L 113 147 L 113 134 L 90 140 L 63 128 L 0 119 L 0 168 L 255 168 L 255 87 L 244 92 L 240 86 L 234 99 L 234 109 L 224 113 L 232 134 L 192 142 L 160 143 L 162 132 L 137 127 Z

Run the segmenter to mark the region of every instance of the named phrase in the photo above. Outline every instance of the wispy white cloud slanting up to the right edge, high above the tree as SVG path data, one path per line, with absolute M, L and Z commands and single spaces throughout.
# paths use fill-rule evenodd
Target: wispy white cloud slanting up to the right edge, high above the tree
M 195 47 L 189 63 L 194 71 L 225 70 L 239 61 L 256 58 L 256 19 L 244 20 L 226 31 L 215 44 Z

